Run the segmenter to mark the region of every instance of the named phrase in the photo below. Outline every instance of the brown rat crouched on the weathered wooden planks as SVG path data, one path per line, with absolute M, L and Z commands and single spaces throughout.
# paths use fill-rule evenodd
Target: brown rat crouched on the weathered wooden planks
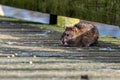
M 72 27 L 66 27 L 60 40 L 63 46 L 89 47 L 97 43 L 98 38 L 99 32 L 96 26 L 82 21 Z

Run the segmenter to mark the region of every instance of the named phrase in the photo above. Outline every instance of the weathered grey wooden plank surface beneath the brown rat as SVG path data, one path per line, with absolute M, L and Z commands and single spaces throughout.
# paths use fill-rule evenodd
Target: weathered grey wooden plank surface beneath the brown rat
M 89 80 L 120 79 L 119 40 L 99 41 L 89 48 L 61 47 L 60 35 L 0 21 L 0 80 L 81 80 L 81 75 Z

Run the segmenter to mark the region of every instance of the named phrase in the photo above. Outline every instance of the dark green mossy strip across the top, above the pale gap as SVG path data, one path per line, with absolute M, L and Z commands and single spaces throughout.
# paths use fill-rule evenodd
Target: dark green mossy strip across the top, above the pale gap
M 0 4 L 120 25 L 120 0 L 0 0 Z

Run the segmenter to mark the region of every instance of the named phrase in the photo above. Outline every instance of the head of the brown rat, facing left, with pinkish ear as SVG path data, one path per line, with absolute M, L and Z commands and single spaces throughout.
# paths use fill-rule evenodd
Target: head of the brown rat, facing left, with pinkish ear
M 77 32 L 77 27 L 66 27 L 64 33 L 61 36 L 61 44 L 64 46 L 73 46 Z

